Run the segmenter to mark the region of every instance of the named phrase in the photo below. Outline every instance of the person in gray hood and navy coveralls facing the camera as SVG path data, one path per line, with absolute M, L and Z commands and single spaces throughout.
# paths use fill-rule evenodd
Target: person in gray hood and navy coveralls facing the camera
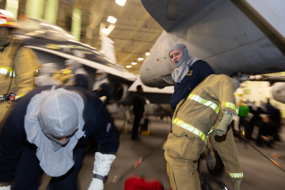
M 207 62 L 196 57 L 191 58 L 185 44 L 181 42 L 171 44 L 168 55 L 177 67 L 171 74 L 175 84 L 170 105 L 174 110 L 178 102 L 188 96 L 202 80 L 215 73 Z

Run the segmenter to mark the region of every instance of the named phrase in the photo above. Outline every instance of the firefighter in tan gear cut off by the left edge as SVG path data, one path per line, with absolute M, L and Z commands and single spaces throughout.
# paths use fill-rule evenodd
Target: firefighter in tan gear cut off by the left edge
M 17 99 L 33 88 L 35 57 L 32 52 L 21 47 L 19 40 L 8 35 L 9 28 L 13 26 L 9 24 L 3 27 L 6 25 L 0 24 L 0 97 L 6 93 L 14 93 Z M 0 121 L 9 107 L 8 101 L 0 101 Z

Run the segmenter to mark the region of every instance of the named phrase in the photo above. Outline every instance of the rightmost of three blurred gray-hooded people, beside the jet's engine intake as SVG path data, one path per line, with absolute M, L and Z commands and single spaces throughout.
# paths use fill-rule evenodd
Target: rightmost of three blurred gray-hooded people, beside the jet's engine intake
M 96 70 L 92 91 L 104 104 L 107 104 L 111 99 L 110 82 L 108 81 L 107 73 L 101 69 Z

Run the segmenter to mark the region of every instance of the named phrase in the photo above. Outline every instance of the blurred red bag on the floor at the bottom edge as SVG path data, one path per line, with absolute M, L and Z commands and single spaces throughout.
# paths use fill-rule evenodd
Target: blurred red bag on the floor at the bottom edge
M 164 190 L 164 188 L 157 179 L 144 179 L 133 175 L 125 181 L 124 190 Z

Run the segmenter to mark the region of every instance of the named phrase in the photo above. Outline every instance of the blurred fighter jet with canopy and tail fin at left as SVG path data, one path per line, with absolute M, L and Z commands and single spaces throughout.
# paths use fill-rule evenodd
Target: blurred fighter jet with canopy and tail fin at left
M 22 39 L 23 46 L 34 50 L 41 64 L 56 63 L 59 69 L 64 69 L 66 59 L 76 59 L 91 76 L 91 84 L 95 82 L 97 69 L 108 73 L 112 93 L 112 105 L 107 106 L 110 113 L 125 112 L 126 108 L 119 110 L 119 107 L 132 104 L 136 86 L 141 84 L 137 83 L 139 75 L 129 73 L 124 66 L 116 64 L 114 42 L 110 38 L 102 38 L 103 54 L 92 46 L 76 41 L 69 32 L 44 19 L 18 20 L 17 25 L 19 28 L 13 31 L 13 35 Z M 145 115 L 171 115 L 169 105 L 160 105 L 162 102 L 157 100 L 161 99 L 153 97 L 156 88 L 146 88 L 145 93 L 152 104 L 146 105 Z M 165 95 L 169 99 L 171 93 Z M 165 102 L 168 103 L 168 100 Z

